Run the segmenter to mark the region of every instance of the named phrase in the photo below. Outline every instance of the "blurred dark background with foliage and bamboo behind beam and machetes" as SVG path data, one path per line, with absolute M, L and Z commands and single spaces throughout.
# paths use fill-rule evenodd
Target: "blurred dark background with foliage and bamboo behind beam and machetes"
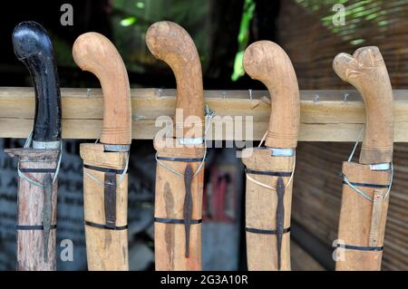
M 73 25 L 60 22 L 63 4 L 73 6 Z M 334 24 L 334 5 L 345 6 L 345 24 Z M 281 45 L 295 66 L 302 90 L 352 89 L 332 70 L 337 53 L 379 46 L 393 89 L 408 89 L 408 0 L 77 0 L 6 1 L 0 10 L 0 86 L 32 86 L 17 61 L 11 34 L 16 24 L 34 20 L 49 32 L 61 87 L 100 87 L 73 63 L 72 45 L 85 32 L 112 40 L 126 64 L 132 88 L 175 88 L 170 68 L 155 60 L 144 36 L 154 22 L 182 25 L 199 51 L 204 89 L 265 90 L 244 75 L 243 52 L 249 43 Z M 0 108 L 1 109 L 1 108 Z M 1 120 L 0 120 L 1 121 Z M 83 232 L 83 172 L 79 144 L 66 140 L 59 177 L 58 244 L 72 239 L 73 262 L 59 270 L 86 270 Z M 0 270 L 14 270 L 16 162 L 3 149 L 24 140 L 0 140 Z M 257 145 L 255 143 L 254 145 Z M 300 142 L 292 207 L 294 270 L 333 270 L 332 242 L 337 234 L 341 163 L 351 143 Z M 133 140 L 129 169 L 130 265 L 154 269 L 154 149 L 151 140 Z M 395 177 L 385 232 L 384 270 L 408 269 L 408 149 L 395 144 Z M 245 177 L 235 149 L 209 149 L 206 162 L 202 259 L 205 270 L 246 270 Z M 61 249 L 61 248 L 60 248 Z

